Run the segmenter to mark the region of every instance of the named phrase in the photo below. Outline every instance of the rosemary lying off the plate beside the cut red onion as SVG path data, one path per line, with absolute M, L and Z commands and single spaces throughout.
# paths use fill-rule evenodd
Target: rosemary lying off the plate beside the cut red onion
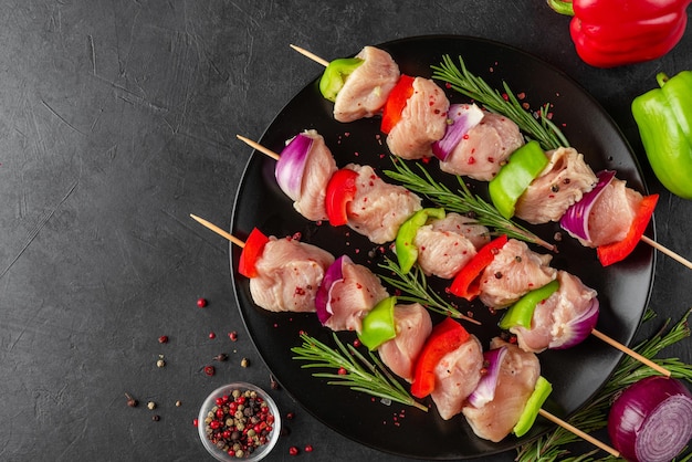
M 690 336 L 688 318 L 691 311 L 672 327 L 664 333 L 668 322 L 661 330 L 650 339 L 639 344 L 633 349 L 640 355 L 652 359 L 671 371 L 671 377 L 692 381 L 692 365 L 684 364 L 678 358 L 656 359 L 663 348 L 673 345 Z M 625 356 L 610 380 L 604 386 L 600 392 L 568 419 L 568 422 L 589 433 L 600 430 L 608 424 L 608 411 L 615 396 L 627 386 L 657 372 L 648 366 L 639 363 L 630 356 Z M 516 461 L 518 462 L 549 462 L 549 461 L 596 461 L 593 456 L 597 451 L 583 454 L 580 456 L 568 456 L 570 453 L 566 444 L 575 443 L 579 438 L 568 430 L 558 427 L 537 440 L 522 445 L 517 450 Z M 598 459 L 598 461 L 611 461 L 612 458 Z

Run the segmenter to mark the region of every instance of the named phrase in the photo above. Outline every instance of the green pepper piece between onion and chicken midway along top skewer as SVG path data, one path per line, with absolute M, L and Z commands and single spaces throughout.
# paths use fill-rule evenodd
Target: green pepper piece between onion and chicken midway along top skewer
M 514 216 L 516 201 L 547 165 L 548 158 L 536 140 L 512 153 L 507 164 L 487 185 L 490 198 L 504 218 Z

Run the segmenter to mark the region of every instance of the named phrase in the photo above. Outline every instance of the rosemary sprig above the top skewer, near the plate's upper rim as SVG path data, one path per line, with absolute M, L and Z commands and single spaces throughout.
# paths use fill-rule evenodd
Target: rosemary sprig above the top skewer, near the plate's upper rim
M 502 83 L 504 94 L 491 88 L 483 78 L 469 72 L 461 56 L 459 56 L 459 66 L 449 55 L 444 55 L 440 65 L 431 67 L 433 78 L 447 82 L 453 90 L 479 102 L 486 109 L 511 118 L 522 132 L 536 139 L 544 149 L 569 146 L 567 138 L 548 116 L 548 103 L 541 106 L 535 115 L 530 113 L 522 106 L 506 82 Z

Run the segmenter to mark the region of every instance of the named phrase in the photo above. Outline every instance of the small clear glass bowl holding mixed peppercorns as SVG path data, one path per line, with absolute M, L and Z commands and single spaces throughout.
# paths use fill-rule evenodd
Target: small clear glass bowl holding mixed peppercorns
M 228 397 L 228 402 L 230 403 L 231 401 L 233 401 L 234 390 L 239 390 L 240 392 L 243 393 L 243 396 L 245 391 L 256 393 L 256 395 L 253 393 L 253 396 L 256 396 L 258 398 L 261 398 L 262 401 L 266 402 L 266 406 L 269 408 L 269 414 L 273 416 L 274 418 L 273 423 L 271 423 L 272 430 L 271 432 L 269 432 L 269 434 L 266 434 L 266 442 L 255 445 L 253 452 L 251 453 L 245 452 L 242 455 L 233 454 L 233 451 L 231 451 L 231 454 L 229 454 L 228 450 L 223 450 L 217 447 L 217 444 L 213 443 L 211 439 L 209 438 L 208 429 L 210 428 L 210 426 L 206 421 L 206 419 L 209 417 L 209 412 L 213 412 L 214 407 L 218 407 L 217 399 L 220 398 L 223 400 L 223 397 Z M 229 416 L 229 417 L 232 418 L 232 416 Z M 226 418 L 223 420 L 226 420 Z M 207 399 L 205 399 L 205 402 L 202 403 L 202 407 L 199 410 L 197 430 L 199 432 L 199 438 L 202 441 L 202 444 L 205 445 L 207 451 L 209 451 L 209 453 L 213 455 L 217 460 L 221 462 L 228 462 L 228 461 L 254 462 L 254 461 L 260 461 L 264 459 L 276 444 L 276 441 L 279 440 L 279 434 L 281 433 L 281 416 L 279 413 L 279 408 L 276 407 L 276 403 L 274 402 L 272 397 L 270 397 L 269 393 L 266 393 L 266 391 L 264 391 L 263 389 L 261 389 L 260 387 L 255 385 L 237 381 L 237 382 L 228 384 L 228 385 L 224 385 L 223 387 L 217 388 L 207 397 Z M 231 448 L 232 448 L 232 444 L 233 442 L 231 441 L 230 442 Z

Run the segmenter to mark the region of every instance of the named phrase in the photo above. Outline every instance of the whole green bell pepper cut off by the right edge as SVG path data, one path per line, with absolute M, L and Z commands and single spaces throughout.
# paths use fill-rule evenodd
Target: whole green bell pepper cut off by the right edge
M 672 193 L 692 199 L 692 71 L 669 78 L 660 88 L 632 101 L 632 115 L 657 178 Z

